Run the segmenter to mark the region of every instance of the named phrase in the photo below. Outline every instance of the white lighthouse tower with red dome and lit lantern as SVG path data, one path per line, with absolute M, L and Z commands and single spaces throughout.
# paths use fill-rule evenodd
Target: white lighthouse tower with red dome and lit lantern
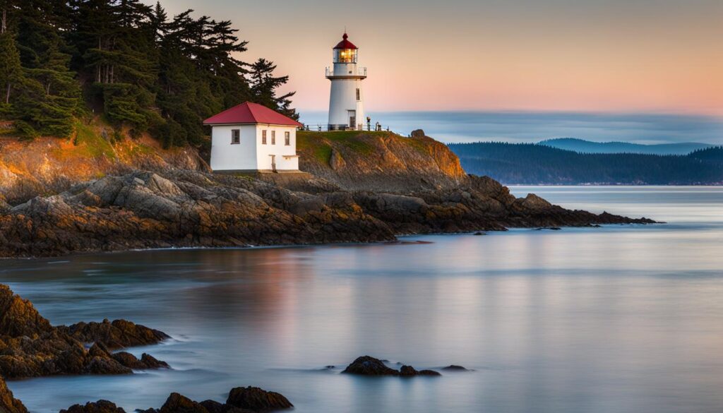
M 359 48 L 348 37 L 344 33 L 334 46 L 334 66 L 326 68 L 326 78 L 331 80 L 329 128 L 361 130 L 365 122 L 361 81 L 367 78 L 367 68 L 356 67 Z

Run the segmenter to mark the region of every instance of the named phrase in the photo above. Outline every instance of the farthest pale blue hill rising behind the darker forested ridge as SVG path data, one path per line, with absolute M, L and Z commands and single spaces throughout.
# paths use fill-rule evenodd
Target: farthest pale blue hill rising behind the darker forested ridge
M 573 150 L 580 153 L 647 153 L 649 155 L 686 155 L 693 150 L 711 148 L 714 145 L 698 142 L 663 143 L 641 145 L 629 142 L 591 142 L 573 137 L 560 137 L 538 142 L 538 145 Z

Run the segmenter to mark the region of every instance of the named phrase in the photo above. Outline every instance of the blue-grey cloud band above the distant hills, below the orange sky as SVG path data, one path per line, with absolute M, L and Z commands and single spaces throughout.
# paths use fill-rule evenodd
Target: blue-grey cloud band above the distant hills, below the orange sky
M 300 111 L 304 124 L 326 124 L 326 111 Z M 723 119 L 681 114 L 595 114 L 523 111 L 370 112 L 372 127 L 408 135 L 424 129 L 428 136 L 453 142 L 539 142 L 577 137 L 594 142 L 643 144 L 703 142 L 721 145 Z

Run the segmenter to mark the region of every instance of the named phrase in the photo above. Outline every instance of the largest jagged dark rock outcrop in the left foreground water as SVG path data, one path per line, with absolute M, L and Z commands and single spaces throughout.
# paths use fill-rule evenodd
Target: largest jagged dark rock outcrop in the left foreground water
M 52 326 L 32 303 L 0 284 L 0 376 L 130 374 L 168 367 L 149 354 L 137 359 L 126 352 L 111 353 L 119 346 L 155 344 L 168 338 L 160 331 L 126 320 L 75 326 Z

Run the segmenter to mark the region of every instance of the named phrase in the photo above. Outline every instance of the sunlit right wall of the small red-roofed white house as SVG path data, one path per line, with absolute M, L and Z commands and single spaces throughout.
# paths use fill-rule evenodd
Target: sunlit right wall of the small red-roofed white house
M 262 131 L 266 130 L 266 145 L 261 143 Z M 276 144 L 271 144 L 271 132 L 276 131 Z M 289 132 L 291 137 L 291 145 L 284 145 L 283 132 Z M 256 147 L 257 165 L 262 171 L 270 171 L 271 155 L 275 155 L 276 170 L 278 171 L 298 171 L 299 158 L 296 158 L 296 127 L 274 126 L 267 124 L 256 125 Z M 284 156 L 288 156 L 285 158 Z

